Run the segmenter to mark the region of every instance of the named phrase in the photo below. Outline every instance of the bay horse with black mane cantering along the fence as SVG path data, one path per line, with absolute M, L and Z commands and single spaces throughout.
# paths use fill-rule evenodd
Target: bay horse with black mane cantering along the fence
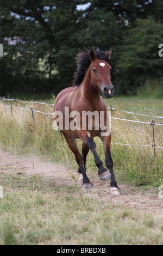
M 79 180 L 82 181 L 83 189 L 92 187 L 86 174 L 86 156 L 90 150 L 98 167 L 99 178 L 102 181 L 110 179 L 110 192 L 120 195 L 121 190 L 115 180 L 110 153 L 111 133 L 110 130 L 106 131 L 109 126 L 108 112 L 101 96 L 102 92 L 105 98 L 110 98 L 115 90 L 110 75 L 111 51 L 110 49 L 109 52 L 103 52 L 99 48 L 96 50 L 84 49 L 78 54 L 78 67 L 73 77 L 73 86 L 63 89 L 56 97 L 54 116 L 59 130 L 64 135 L 78 163 Z M 60 113 L 62 120 L 59 119 Z M 84 120 L 84 113 L 92 114 L 91 121 L 88 121 L 87 116 Z M 74 126 L 71 129 L 72 123 Z M 89 126 L 90 123 L 92 127 Z M 100 137 L 103 143 L 106 168 L 97 154 L 96 143 L 93 141 L 96 136 Z M 81 139 L 83 142 L 82 154 L 79 152 L 77 139 Z

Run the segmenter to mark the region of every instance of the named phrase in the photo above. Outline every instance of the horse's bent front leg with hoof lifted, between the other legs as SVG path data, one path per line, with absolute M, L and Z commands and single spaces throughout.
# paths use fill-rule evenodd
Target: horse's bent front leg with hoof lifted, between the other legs
M 98 167 L 98 175 L 101 180 L 110 179 L 111 174 L 108 169 L 103 166 L 103 162 L 99 158 L 96 151 L 96 143 L 89 137 L 89 134 L 86 131 L 78 132 L 80 139 L 87 145 L 87 148 L 91 150 L 93 156 L 95 157 L 95 163 Z

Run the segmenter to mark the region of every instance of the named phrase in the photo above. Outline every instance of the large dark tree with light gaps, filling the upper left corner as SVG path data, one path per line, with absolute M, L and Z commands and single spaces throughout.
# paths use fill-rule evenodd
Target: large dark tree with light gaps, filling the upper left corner
M 74 31 L 83 12 L 76 9 L 80 1 L 5 1 L 0 0 L 0 41 L 5 57 L 1 59 L 1 78 L 5 90 L 47 92 L 70 86 L 78 42 Z M 63 8 L 64 6 L 64 8 Z M 10 42 L 16 40 L 14 45 Z M 43 63 L 44 69 L 40 69 Z M 10 69 L 12 66 L 12 69 Z M 7 71 L 9 70 L 9 71 Z M 7 72 L 6 72 L 7 71 Z

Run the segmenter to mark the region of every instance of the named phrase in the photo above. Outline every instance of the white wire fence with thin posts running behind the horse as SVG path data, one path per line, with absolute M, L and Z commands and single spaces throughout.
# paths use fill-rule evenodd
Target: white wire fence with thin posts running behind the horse
M 19 102 L 23 102 L 23 103 L 31 103 L 29 101 L 23 101 L 23 100 L 18 100 L 18 99 L 5 99 L 5 98 L 2 98 L 0 96 L 0 100 L 1 101 L 8 101 L 8 102 L 11 102 L 11 101 L 19 101 Z M 39 104 L 42 104 L 42 105 L 49 105 L 49 106 L 54 106 L 54 104 L 51 104 L 51 103 L 45 103 L 45 102 L 39 102 L 39 101 L 34 101 L 32 103 L 39 103 Z M 32 117 L 34 119 L 34 112 L 37 112 L 37 113 L 42 113 L 42 114 L 46 114 L 47 116 L 47 124 L 48 124 L 48 117 L 49 115 L 52 115 L 54 117 L 54 113 L 47 113 L 47 112 L 42 112 L 42 111 L 38 111 L 36 109 L 33 109 L 33 107 L 30 107 L 30 108 L 24 108 L 24 107 L 15 107 L 15 106 L 8 106 L 4 103 L 4 105 L 0 105 L 0 107 L 3 107 L 4 108 L 4 111 L 5 111 L 5 117 L 7 117 L 7 111 L 6 111 L 6 108 L 10 108 L 11 109 L 11 117 L 12 117 L 12 109 L 13 108 L 16 108 L 16 109 L 22 109 L 22 113 L 23 113 L 23 122 L 25 122 L 25 119 L 24 119 L 24 110 L 25 111 L 31 111 L 32 112 Z M 134 113 L 134 112 L 129 112 L 129 111 L 123 111 L 121 109 L 116 109 L 116 108 L 112 108 L 112 106 L 108 107 L 108 109 L 111 109 L 112 110 L 118 110 L 118 111 L 121 111 L 121 112 L 125 112 L 125 113 L 128 113 L 128 114 L 134 114 L 134 115 L 142 115 L 142 116 L 145 116 L 145 117 L 152 117 L 152 118 L 161 118 L 163 119 L 163 117 L 160 117 L 160 116 L 154 116 L 154 115 L 147 115 L 147 114 L 140 114 L 140 113 Z M 116 118 L 116 117 L 111 117 L 112 119 L 117 119 L 117 120 L 123 120 L 123 121 L 129 121 L 129 122 L 133 122 L 133 123 L 140 123 L 140 124 L 147 124 L 147 125 L 152 125 L 153 127 L 153 144 L 152 145 L 144 145 L 144 144 L 127 144 L 127 143 L 111 143 L 111 144 L 115 144 L 115 145 L 126 145 L 126 146 L 138 146 L 138 147 L 153 147 L 154 148 L 154 154 L 155 154 L 155 148 L 158 148 L 158 149 L 163 149 L 163 147 L 160 147 L 158 145 L 155 144 L 155 141 L 154 141 L 154 125 L 157 125 L 157 126 L 163 126 L 163 124 L 158 124 L 158 123 L 155 123 L 153 120 L 152 122 L 145 122 L 145 121 L 138 121 L 138 120 L 131 120 L 131 119 L 123 119 L 123 118 Z

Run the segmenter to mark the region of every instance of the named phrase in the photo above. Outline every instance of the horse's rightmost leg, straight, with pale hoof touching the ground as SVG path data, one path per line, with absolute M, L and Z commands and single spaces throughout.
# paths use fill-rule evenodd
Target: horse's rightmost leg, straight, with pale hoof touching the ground
M 113 162 L 111 158 L 111 153 L 110 153 L 110 143 L 111 143 L 111 135 L 106 136 L 106 137 L 101 137 L 102 142 L 103 142 L 103 147 L 104 147 L 104 154 L 105 154 L 105 164 L 106 167 L 108 168 L 110 174 L 111 174 L 111 179 L 110 179 L 110 192 L 111 194 L 116 194 L 120 195 L 121 191 L 120 188 L 117 186 L 117 181 L 114 176 L 113 172 Z

